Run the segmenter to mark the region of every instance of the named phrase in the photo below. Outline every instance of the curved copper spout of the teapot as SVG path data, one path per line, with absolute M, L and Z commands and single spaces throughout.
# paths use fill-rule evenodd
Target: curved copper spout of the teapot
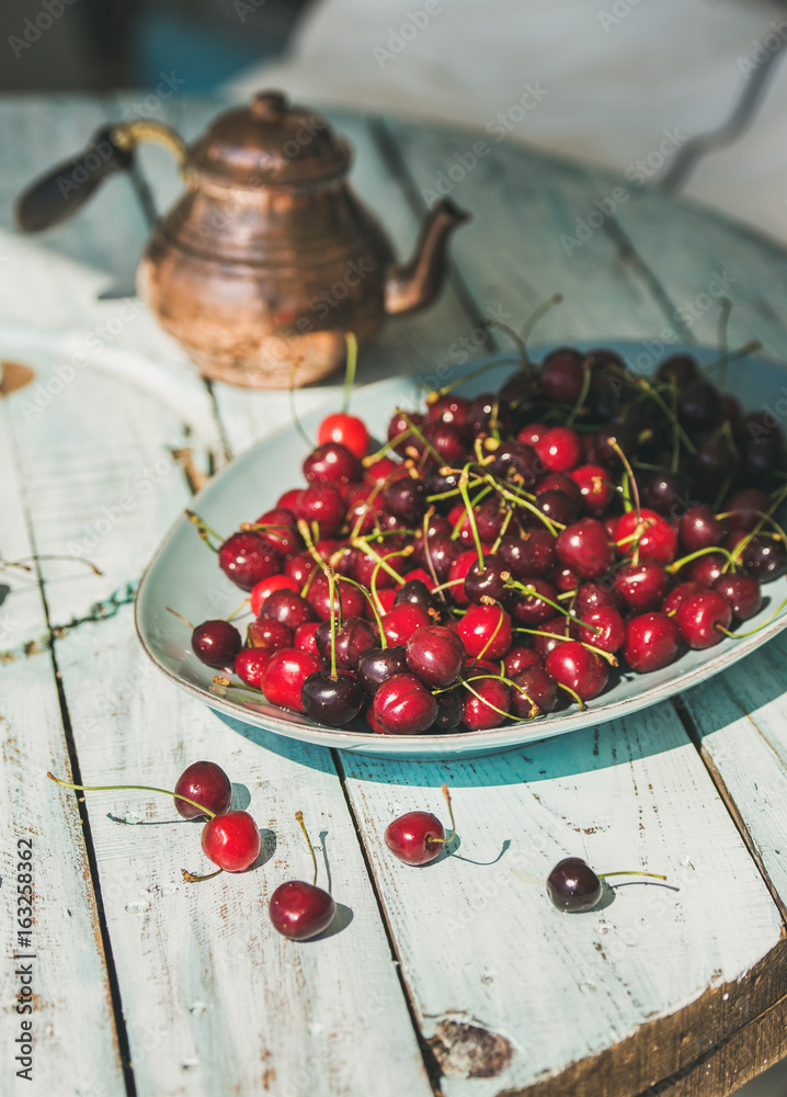
M 407 263 L 389 267 L 385 306 L 389 316 L 414 313 L 431 305 L 445 279 L 446 246 L 452 231 L 470 219 L 448 199 L 432 207 L 421 229 L 415 253 Z

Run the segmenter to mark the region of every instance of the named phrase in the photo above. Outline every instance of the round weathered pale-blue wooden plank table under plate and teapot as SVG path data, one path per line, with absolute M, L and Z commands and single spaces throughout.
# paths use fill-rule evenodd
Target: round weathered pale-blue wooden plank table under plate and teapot
M 460 764 L 363 759 L 229 726 L 146 661 L 132 602 L 153 548 L 205 474 L 289 410 L 284 394 L 207 387 L 128 297 L 147 217 L 178 192 L 160 150 L 47 238 L 10 235 L 20 188 L 142 99 L 0 102 L 0 355 L 35 371 L 0 402 L 0 548 L 42 557 L 0 576 L 0 1089 L 732 1092 L 787 1054 L 787 641 L 675 704 Z M 191 139 L 219 105 L 173 95 L 144 110 Z M 555 291 L 566 302 L 544 320 L 545 341 L 642 339 L 652 360 L 676 339 L 715 342 L 725 294 L 732 341 L 757 338 L 784 357 L 785 256 L 744 229 L 510 140 L 489 138 L 474 166 L 477 134 L 333 118 L 356 146 L 358 191 L 401 252 L 438 182 L 474 213 L 441 303 L 391 324 L 364 353 L 362 380 L 438 373 L 464 347 L 493 346 L 484 317 L 518 325 Z M 70 369 L 84 351 L 88 364 Z M 298 404 L 337 396 L 323 386 Z M 58 553 L 103 574 L 45 558 Z M 107 817 L 170 818 L 161 798 L 79 803 L 45 776 L 171 787 L 202 757 L 244 787 L 275 852 L 259 871 L 198 886 L 180 872 L 203 863 L 195 830 Z M 460 856 L 427 870 L 392 860 L 385 826 L 410 807 L 444 813 L 444 781 Z M 305 945 L 277 937 L 265 911 L 277 883 L 308 871 L 297 808 L 342 904 L 338 931 Z M 30 948 L 15 926 L 23 848 Z M 569 853 L 598 870 L 647 864 L 669 886 L 623 886 L 592 914 L 559 915 L 544 879 Z M 15 948 L 35 955 L 19 961 L 33 973 L 32 1085 L 14 1076 Z

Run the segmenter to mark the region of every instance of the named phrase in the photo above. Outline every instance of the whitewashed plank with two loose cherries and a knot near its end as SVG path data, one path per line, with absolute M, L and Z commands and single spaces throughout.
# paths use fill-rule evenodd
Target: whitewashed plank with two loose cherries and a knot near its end
M 670 706 L 465 764 L 404 770 L 342 760 L 424 1034 L 438 1045 L 458 1021 L 511 1044 L 511 1062 L 489 1081 L 467 1078 L 460 1055 L 444 1054 L 449 1097 L 539 1086 L 558 1093 L 571 1064 L 574 1093 L 634 1095 L 756 1008 L 741 1002 L 733 1009 L 730 999 L 729 1009 L 705 1011 L 691 1026 L 664 1024 L 657 1036 L 659 1019 L 708 987 L 734 989 L 782 939 L 778 911 Z M 385 827 L 411 807 L 445 816 L 442 781 L 454 789 L 466 860 L 403 866 L 385 847 Z M 505 839 L 510 848 L 501 849 Z M 665 872 L 669 886 L 632 879 L 607 907 L 560 915 L 544 881 L 567 855 L 598 871 Z M 776 987 L 784 977 L 780 970 L 761 1008 L 784 993 Z M 636 1054 L 624 1054 L 627 1040 Z M 591 1085 L 585 1067 L 611 1048 L 606 1078 L 593 1075 Z

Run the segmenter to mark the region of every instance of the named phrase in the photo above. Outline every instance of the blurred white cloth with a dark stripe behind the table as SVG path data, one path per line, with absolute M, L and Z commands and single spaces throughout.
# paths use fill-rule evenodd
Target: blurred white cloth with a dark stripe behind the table
M 510 139 L 625 170 L 658 163 L 665 132 L 719 126 L 780 37 L 775 0 L 319 0 L 290 55 L 231 90 L 480 129 L 502 114 Z M 528 86 L 543 98 L 523 112 Z M 787 56 L 751 128 L 682 193 L 787 242 L 785 100 Z

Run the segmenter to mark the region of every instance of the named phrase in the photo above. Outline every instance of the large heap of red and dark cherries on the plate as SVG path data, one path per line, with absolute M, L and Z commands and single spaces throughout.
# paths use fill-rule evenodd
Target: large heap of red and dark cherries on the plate
M 197 625 L 194 652 L 219 687 L 411 735 L 584 705 L 611 668 L 741 635 L 787 572 L 785 440 L 711 374 L 566 348 L 396 409 L 373 454 L 328 416 L 305 487 L 226 540 L 190 512 L 253 613 L 246 640 Z

